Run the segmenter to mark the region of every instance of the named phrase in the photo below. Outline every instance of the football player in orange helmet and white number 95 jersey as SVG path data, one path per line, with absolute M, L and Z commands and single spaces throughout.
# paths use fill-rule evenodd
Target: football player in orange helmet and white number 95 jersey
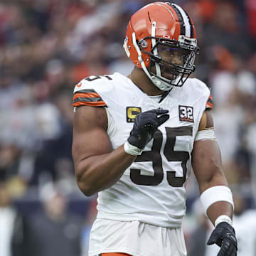
M 177 4 L 146 5 L 129 21 L 124 50 L 134 63 L 128 77 L 90 76 L 74 90 L 75 175 L 85 196 L 98 193 L 89 255 L 186 255 L 191 166 L 215 225 L 208 245 L 237 255 L 210 90 L 189 78 L 198 53 L 191 17 Z

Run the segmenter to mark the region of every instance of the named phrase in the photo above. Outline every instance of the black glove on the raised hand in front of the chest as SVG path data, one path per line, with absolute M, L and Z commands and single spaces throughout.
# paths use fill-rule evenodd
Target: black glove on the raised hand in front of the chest
M 156 129 L 169 119 L 169 110 L 149 110 L 137 114 L 134 126 L 127 139 L 129 144 L 144 149 L 146 144 L 154 137 Z

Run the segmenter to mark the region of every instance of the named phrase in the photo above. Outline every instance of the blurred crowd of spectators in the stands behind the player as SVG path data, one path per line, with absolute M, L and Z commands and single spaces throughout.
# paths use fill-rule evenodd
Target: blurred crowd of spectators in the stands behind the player
M 94 206 L 95 198 L 85 199 L 75 185 L 73 87 L 89 75 L 129 75 L 132 63 L 122 49 L 127 23 L 151 2 L 1 0 L 0 186 L 22 214 L 24 201 L 45 203 L 41 195 L 49 184 L 58 187 L 66 201 L 80 198 L 89 202 L 81 207 Z M 193 75 L 206 82 L 213 95 L 215 134 L 230 187 L 245 198 L 247 208 L 255 208 L 256 1 L 173 2 L 183 6 L 196 25 L 201 50 Z M 192 176 L 188 200 L 196 196 Z M 95 214 L 89 212 L 88 218 L 82 216 L 85 227 Z M 69 225 L 76 234 L 79 225 Z

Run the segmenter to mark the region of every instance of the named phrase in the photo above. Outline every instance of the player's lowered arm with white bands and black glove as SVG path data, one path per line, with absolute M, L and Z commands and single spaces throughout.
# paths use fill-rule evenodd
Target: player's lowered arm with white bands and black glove
M 237 241 L 232 227 L 233 197 L 222 169 L 221 154 L 214 139 L 213 117 L 203 113 L 199 124 L 200 136 L 193 145 L 192 166 L 201 193 L 206 215 L 215 225 L 208 245 L 221 247 L 220 255 L 237 255 Z

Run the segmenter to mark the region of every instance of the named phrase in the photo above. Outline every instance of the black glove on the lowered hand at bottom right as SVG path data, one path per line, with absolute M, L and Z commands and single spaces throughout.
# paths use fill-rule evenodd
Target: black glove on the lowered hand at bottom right
M 211 233 L 207 245 L 216 244 L 220 246 L 217 256 L 236 256 L 238 250 L 238 241 L 235 238 L 235 230 L 226 222 L 217 225 Z

